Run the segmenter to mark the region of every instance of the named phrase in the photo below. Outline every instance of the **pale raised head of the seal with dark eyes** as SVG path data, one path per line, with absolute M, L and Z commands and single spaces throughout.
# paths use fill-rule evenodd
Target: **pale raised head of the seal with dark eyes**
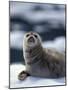
M 41 44 L 41 38 L 39 34 L 35 32 L 29 32 L 26 33 L 23 40 L 23 45 L 27 47 L 35 47 L 37 45 Z

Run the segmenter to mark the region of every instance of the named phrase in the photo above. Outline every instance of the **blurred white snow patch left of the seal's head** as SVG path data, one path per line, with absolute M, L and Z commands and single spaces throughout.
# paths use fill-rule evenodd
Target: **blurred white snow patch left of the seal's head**
M 10 34 L 10 47 L 22 49 L 24 31 L 13 31 Z

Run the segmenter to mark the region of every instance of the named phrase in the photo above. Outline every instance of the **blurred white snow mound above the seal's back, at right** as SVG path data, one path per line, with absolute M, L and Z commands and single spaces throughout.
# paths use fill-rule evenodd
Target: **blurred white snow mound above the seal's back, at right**
M 43 47 L 55 48 L 60 52 L 65 52 L 65 37 L 57 37 L 53 41 L 44 42 Z

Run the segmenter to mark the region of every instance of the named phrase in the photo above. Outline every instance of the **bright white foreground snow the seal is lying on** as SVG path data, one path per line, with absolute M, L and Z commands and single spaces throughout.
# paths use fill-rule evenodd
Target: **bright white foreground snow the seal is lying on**
M 25 66 L 22 64 L 10 65 L 10 88 L 65 85 L 64 77 L 58 79 L 47 79 L 28 76 L 24 81 L 20 81 L 18 80 L 18 74 L 22 70 L 25 70 Z

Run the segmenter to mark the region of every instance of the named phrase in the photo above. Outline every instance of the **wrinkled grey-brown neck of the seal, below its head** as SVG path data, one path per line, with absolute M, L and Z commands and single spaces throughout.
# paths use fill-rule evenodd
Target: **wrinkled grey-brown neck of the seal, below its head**
M 25 50 L 26 63 L 34 64 L 40 61 L 42 57 L 43 49 L 41 45 L 37 45 L 34 48 Z

